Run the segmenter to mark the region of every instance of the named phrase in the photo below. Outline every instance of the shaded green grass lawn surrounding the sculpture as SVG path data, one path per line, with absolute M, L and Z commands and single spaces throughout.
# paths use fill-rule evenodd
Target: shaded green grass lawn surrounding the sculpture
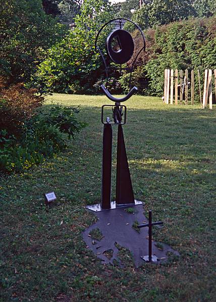
M 164 105 L 132 97 L 124 125 L 135 198 L 153 210 L 154 238 L 181 254 L 165 265 L 104 266 L 82 241 L 95 221 L 84 205 L 100 201 L 105 97 L 55 94 L 50 103 L 81 105 L 88 123 L 65 153 L 0 179 L 0 301 L 215 301 L 216 108 Z M 113 188 L 117 127 L 114 126 Z M 43 194 L 55 191 L 52 207 Z M 114 190 L 113 190 L 113 193 Z M 113 199 L 115 194 L 113 194 Z

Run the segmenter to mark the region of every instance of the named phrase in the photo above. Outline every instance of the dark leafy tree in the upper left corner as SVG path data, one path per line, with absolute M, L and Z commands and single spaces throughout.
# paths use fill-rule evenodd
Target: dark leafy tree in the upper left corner
M 45 49 L 60 39 L 63 26 L 47 16 L 41 0 L 6 0 L 0 7 L 0 74 L 9 83 L 28 81 Z

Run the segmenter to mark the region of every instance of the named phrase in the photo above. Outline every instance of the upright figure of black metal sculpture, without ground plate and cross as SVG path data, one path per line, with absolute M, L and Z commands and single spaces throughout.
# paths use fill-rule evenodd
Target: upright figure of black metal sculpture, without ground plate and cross
M 107 98 L 115 102 L 115 105 L 103 105 L 101 110 L 101 122 L 103 123 L 103 157 L 102 157 L 102 186 L 101 186 L 101 203 L 96 205 L 87 206 L 88 209 L 93 211 L 108 210 L 116 208 L 118 206 L 130 206 L 141 204 L 141 201 L 134 199 L 134 193 L 132 188 L 131 176 L 128 166 L 128 159 L 125 148 L 124 134 L 122 125 L 126 123 L 126 113 L 127 108 L 121 105 L 122 102 L 128 100 L 132 95 L 137 92 L 137 87 L 131 88 L 131 76 L 135 62 L 139 54 L 145 50 L 145 37 L 134 22 L 128 19 L 113 19 L 105 23 L 97 33 L 95 39 L 95 51 L 99 52 L 106 72 L 106 81 L 108 81 L 108 66 L 102 50 L 98 47 L 97 42 L 100 33 L 106 26 L 110 26 L 115 23 L 118 28 L 115 28 L 106 38 L 105 48 L 106 55 L 109 60 L 115 64 L 120 65 L 120 70 L 122 70 L 122 64 L 128 62 L 134 53 L 134 41 L 131 34 L 123 29 L 124 23 L 128 21 L 133 23 L 139 30 L 143 45 L 138 50 L 138 53 L 133 61 L 132 68 L 130 68 L 130 80 L 129 93 L 122 98 L 114 97 L 104 85 L 101 85 L 101 90 Z M 113 45 L 118 46 L 118 50 L 113 47 Z M 126 68 L 127 69 L 127 68 Z M 104 107 L 112 107 L 112 120 L 110 117 L 106 117 L 104 121 Z M 124 118 L 123 118 L 124 117 Z M 118 125 L 118 144 L 117 144 L 117 176 L 116 176 L 116 201 L 111 202 L 111 167 L 112 167 L 112 124 Z

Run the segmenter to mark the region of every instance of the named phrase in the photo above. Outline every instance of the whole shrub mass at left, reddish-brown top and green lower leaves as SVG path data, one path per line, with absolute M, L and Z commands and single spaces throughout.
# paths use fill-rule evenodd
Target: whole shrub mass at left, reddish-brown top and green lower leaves
M 2 91 L 0 170 L 3 172 L 19 172 L 40 164 L 64 150 L 68 139 L 75 138 L 85 126 L 75 116 L 78 108 L 56 105 L 45 113 L 36 111 L 43 98 L 34 96 L 34 92 L 20 85 Z

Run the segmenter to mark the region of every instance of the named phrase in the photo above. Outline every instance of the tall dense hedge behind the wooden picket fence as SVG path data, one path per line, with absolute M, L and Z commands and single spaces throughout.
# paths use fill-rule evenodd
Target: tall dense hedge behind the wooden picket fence
M 216 17 L 189 19 L 175 22 L 146 32 L 148 57 L 133 72 L 133 85 L 139 92 L 161 96 L 164 91 L 164 70 L 195 70 L 195 97 L 198 100 L 197 69 L 203 74 L 205 68 L 216 68 Z M 152 39 L 153 36 L 153 39 Z M 145 54 L 144 54 L 145 55 Z M 128 75 L 121 79 L 127 87 Z M 202 82 L 202 77 L 201 77 Z

